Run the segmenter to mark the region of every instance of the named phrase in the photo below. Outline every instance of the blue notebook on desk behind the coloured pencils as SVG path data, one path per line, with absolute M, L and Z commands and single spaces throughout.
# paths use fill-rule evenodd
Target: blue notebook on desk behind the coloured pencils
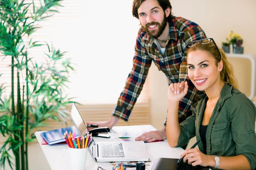
M 56 143 L 60 143 L 60 142 L 65 142 L 64 139 L 64 133 L 66 132 L 73 132 L 75 130 L 76 132 L 76 136 L 75 139 L 79 136 L 79 131 L 76 129 L 75 126 L 70 126 L 70 127 L 64 127 L 61 129 L 55 129 L 55 130 L 49 130 L 47 132 L 43 132 L 41 133 L 41 136 L 44 138 L 44 140 L 48 143 L 48 144 L 56 144 Z

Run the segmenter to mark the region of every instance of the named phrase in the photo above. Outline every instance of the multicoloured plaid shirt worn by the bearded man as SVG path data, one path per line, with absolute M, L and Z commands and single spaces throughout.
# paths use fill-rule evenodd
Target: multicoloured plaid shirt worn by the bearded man
M 154 38 L 149 37 L 142 28 L 139 30 L 133 68 L 128 75 L 125 88 L 120 94 L 112 116 L 128 121 L 143 88 L 152 61 L 166 75 L 169 84 L 181 81 L 188 82 L 188 93 L 179 105 L 179 121 L 185 120 L 188 112 L 194 108 L 193 105 L 199 98 L 197 96 L 198 91 L 187 74 L 186 48 L 189 42 L 204 39 L 206 35 L 196 23 L 181 17 L 174 17 L 169 26 L 169 39 L 166 42 L 164 56 L 160 54 L 157 45 L 154 43 Z M 166 120 L 164 125 L 166 125 Z

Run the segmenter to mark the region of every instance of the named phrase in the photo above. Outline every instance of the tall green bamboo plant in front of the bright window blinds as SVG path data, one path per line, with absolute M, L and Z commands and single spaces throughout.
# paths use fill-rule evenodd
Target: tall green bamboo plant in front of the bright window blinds
M 39 5 L 25 0 L 0 1 L 0 62 L 9 58 L 12 73 L 11 94 L 4 95 L 7 86 L 0 72 L 0 132 L 6 139 L 0 147 L 0 169 L 9 164 L 12 169 L 28 170 L 28 142 L 35 138 L 32 131 L 46 126 L 47 119 L 67 125 L 69 112 L 65 109 L 73 102 L 63 93 L 68 74 L 74 71 L 70 59 L 52 45 L 30 38 L 40 29 L 40 21 L 58 12 L 61 0 L 38 1 Z M 48 49 L 43 64 L 28 52 L 42 45 Z

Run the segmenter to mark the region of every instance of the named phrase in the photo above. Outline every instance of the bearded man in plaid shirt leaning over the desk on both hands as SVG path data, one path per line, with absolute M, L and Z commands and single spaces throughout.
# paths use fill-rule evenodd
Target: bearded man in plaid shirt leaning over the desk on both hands
M 204 39 L 206 35 L 196 23 L 172 16 L 171 10 L 169 0 L 134 0 L 132 12 L 140 20 L 141 28 L 135 45 L 133 69 L 111 119 L 106 122 L 86 122 L 87 125 L 112 128 L 119 119 L 128 121 L 152 61 L 166 75 L 169 84 L 188 82 L 188 94 L 179 105 L 179 121 L 182 122 L 189 115 L 192 105 L 198 101 L 198 91 L 186 72 L 185 50 L 189 42 Z M 161 139 L 166 139 L 166 121 L 162 130 L 144 133 L 136 140 L 153 142 Z

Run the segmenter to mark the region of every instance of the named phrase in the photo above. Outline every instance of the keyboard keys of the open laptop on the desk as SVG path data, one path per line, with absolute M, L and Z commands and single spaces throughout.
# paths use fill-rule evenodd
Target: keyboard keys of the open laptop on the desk
M 101 144 L 102 157 L 125 157 L 121 143 L 117 144 Z

